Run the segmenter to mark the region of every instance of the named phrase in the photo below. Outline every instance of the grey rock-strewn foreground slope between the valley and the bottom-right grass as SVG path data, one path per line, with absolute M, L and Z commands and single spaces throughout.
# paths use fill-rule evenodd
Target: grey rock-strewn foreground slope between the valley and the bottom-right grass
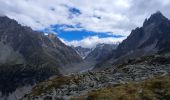
M 140 82 L 157 75 L 164 76 L 168 74 L 170 74 L 169 54 L 146 56 L 99 72 L 85 72 L 82 74 L 53 77 L 35 86 L 32 92 L 25 95 L 22 99 L 69 100 L 87 95 L 92 90 L 108 86 L 114 87 L 129 83 L 130 81 Z

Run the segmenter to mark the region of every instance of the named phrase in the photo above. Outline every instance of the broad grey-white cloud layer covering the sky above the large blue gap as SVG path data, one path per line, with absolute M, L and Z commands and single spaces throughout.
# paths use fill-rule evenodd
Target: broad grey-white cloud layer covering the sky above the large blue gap
M 66 6 L 75 7 L 82 14 L 69 19 Z M 35 30 L 52 24 L 80 23 L 89 31 L 125 36 L 157 10 L 170 17 L 169 8 L 169 0 L 0 0 L 0 15 L 3 13 Z

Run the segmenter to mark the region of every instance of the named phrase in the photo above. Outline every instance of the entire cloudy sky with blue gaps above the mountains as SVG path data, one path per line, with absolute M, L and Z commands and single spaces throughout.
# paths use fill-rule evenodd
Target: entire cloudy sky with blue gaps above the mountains
M 122 41 L 157 11 L 170 19 L 169 9 L 170 0 L 0 0 L 0 15 L 89 48 Z

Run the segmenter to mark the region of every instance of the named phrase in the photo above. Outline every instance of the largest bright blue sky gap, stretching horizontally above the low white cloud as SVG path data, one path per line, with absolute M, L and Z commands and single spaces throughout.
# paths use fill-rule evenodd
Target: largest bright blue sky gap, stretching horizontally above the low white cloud
M 79 25 L 76 25 L 76 28 L 80 28 Z M 87 37 L 91 36 L 98 36 L 99 38 L 122 38 L 125 37 L 123 35 L 115 35 L 110 32 L 93 32 L 88 30 L 66 30 L 67 28 L 74 28 L 70 25 L 51 25 L 50 28 L 46 28 L 43 31 L 45 33 L 55 33 L 59 38 L 62 38 L 66 41 L 73 41 L 73 40 L 82 40 Z

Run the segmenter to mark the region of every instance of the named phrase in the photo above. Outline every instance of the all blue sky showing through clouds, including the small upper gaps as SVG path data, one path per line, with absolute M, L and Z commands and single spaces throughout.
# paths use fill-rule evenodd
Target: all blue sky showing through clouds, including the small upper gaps
M 69 18 L 72 19 L 74 17 L 77 17 L 79 15 L 81 15 L 81 11 L 77 8 L 74 7 L 68 7 L 68 11 L 69 11 Z M 52 11 L 54 11 L 55 9 L 51 9 Z M 94 16 L 97 19 L 101 19 L 100 16 Z M 66 30 L 68 28 L 72 28 L 73 30 Z M 79 28 L 80 30 L 74 30 L 74 28 Z M 93 37 L 93 36 L 98 36 L 99 38 L 108 38 L 108 37 L 112 37 L 112 38 L 122 38 L 125 37 L 123 35 L 116 35 L 116 34 L 112 34 L 110 32 L 93 32 L 93 31 L 88 31 L 85 29 L 81 29 L 81 24 L 76 24 L 76 25 L 51 25 L 49 28 L 45 28 L 44 30 L 40 30 L 46 33 L 56 33 L 56 35 L 59 38 L 62 38 L 65 41 L 80 41 L 83 40 L 87 37 Z

